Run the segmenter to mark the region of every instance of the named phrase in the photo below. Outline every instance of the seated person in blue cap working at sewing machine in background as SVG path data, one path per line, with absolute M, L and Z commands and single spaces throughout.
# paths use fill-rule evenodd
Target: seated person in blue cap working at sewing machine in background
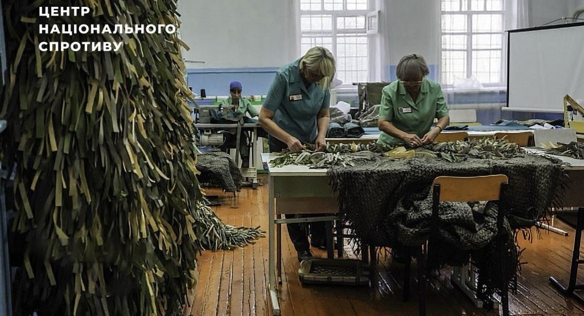
M 239 111 L 244 115 L 249 114 L 249 117 L 257 117 L 259 111 L 256 110 L 248 99 L 241 96 L 242 86 L 241 82 L 234 81 L 229 85 L 230 97 L 221 101 L 221 107 L 223 108 L 223 113 L 227 114 L 233 111 Z M 231 133 L 225 133 L 225 142 L 221 145 L 221 150 L 226 151 L 228 148 L 235 148 L 235 143 L 237 142 L 237 135 Z M 249 150 L 248 150 L 248 139 L 249 135 L 246 132 L 241 133 L 239 139 L 239 154 L 241 156 L 241 167 L 249 167 Z

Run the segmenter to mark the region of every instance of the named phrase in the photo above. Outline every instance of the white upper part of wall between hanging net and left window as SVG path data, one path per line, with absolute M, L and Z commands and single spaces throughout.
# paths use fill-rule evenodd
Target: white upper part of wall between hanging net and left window
M 290 0 L 180 0 L 187 68 L 280 67 L 292 59 Z

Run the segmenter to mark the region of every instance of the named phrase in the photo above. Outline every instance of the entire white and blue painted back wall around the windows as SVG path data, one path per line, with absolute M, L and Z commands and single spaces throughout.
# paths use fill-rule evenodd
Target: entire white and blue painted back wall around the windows
M 187 80 L 193 90 L 199 92 L 204 88 L 208 96 L 224 96 L 228 94 L 229 82 L 239 80 L 244 85 L 244 94 L 265 94 L 277 68 L 297 58 L 291 55 L 293 1 L 297 0 L 180 0 L 181 36 L 191 48 L 184 57 L 205 62 L 187 63 Z M 436 50 L 440 1 L 371 2 L 381 10 L 380 33 L 370 37 L 374 43 L 370 50 L 371 68 L 376 69 L 374 80 L 394 80 L 395 65 L 411 52 L 425 57 L 430 78 L 437 79 L 434 73 L 439 63 Z M 584 8 L 584 0 L 528 3 L 530 26 L 571 16 L 576 8 Z M 481 99 L 471 103 L 483 101 L 491 102 Z M 456 103 L 458 100 L 453 101 Z

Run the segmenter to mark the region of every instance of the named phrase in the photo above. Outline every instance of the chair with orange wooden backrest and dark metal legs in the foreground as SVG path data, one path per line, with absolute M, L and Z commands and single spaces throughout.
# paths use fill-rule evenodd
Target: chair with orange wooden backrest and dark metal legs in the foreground
M 428 271 L 426 258 L 432 256 L 432 241 L 438 236 L 438 207 L 440 202 L 472 202 L 472 201 L 501 201 L 497 218 L 498 231 L 503 230 L 503 216 L 505 215 L 505 187 L 509 180 L 504 174 L 484 175 L 477 177 L 437 177 L 433 182 L 432 193 L 432 233 L 426 245 L 422 245 L 421 251 L 416 255 L 418 261 L 418 295 L 419 314 L 426 315 L 426 283 Z M 473 188 L 468 189 L 468 188 Z M 501 258 L 508 254 L 508 249 L 501 250 Z M 409 271 L 409 269 L 406 269 Z M 507 275 L 506 261 L 501 261 L 501 273 Z M 408 278 L 409 282 L 409 278 Z M 509 284 L 509 280 L 505 282 Z M 503 315 L 509 315 L 509 295 L 505 286 L 500 293 L 503 304 Z

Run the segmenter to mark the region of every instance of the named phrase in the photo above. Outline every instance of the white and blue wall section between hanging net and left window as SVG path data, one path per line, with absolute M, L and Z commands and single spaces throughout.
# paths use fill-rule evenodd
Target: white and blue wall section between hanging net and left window
M 183 57 L 194 92 L 226 95 L 239 80 L 244 95 L 265 94 L 280 66 L 293 60 L 290 3 L 274 0 L 180 0 Z

